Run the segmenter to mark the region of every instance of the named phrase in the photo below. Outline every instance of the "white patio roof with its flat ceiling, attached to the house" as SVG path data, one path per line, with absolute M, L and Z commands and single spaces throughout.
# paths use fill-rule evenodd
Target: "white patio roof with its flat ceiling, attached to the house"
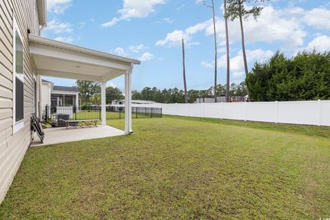
M 29 35 L 30 54 L 38 74 L 58 78 L 107 82 L 140 61 Z

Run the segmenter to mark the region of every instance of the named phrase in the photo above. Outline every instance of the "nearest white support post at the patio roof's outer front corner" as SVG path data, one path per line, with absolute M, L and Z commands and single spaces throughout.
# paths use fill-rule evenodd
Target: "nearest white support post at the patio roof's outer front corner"
M 127 70 L 125 74 L 125 134 L 129 135 L 132 132 L 132 71 Z

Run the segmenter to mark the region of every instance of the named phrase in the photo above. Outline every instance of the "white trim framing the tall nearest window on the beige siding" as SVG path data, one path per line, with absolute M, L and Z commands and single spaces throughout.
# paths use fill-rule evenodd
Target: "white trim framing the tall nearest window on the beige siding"
M 23 100 L 23 119 L 19 122 L 16 122 L 16 32 L 19 34 L 23 44 L 23 78 L 20 78 L 23 82 L 24 87 L 24 41 L 23 36 L 21 34 L 21 30 L 19 30 L 19 25 L 17 25 L 17 21 L 13 19 L 13 34 L 12 34 L 12 133 L 17 133 L 17 131 L 21 130 L 24 126 L 24 100 Z M 23 88 L 24 89 L 24 88 Z

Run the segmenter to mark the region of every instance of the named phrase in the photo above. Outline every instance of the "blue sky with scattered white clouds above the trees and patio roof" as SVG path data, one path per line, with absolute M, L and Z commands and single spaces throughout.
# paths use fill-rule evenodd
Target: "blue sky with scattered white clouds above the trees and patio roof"
M 186 41 L 188 89 L 214 84 L 212 11 L 201 0 L 47 0 L 48 25 L 42 36 L 142 61 L 133 69 L 133 89 L 184 87 L 181 39 Z M 210 0 L 206 1 L 209 4 Z M 225 25 L 222 0 L 217 19 L 218 83 L 225 84 Z M 249 6 L 249 5 L 248 5 Z M 248 66 L 276 51 L 288 57 L 302 50 L 330 51 L 330 1 L 271 0 L 257 21 L 244 21 Z M 239 23 L 229 23 L 230 81 L 244 80 Z M 55 85 L 76 80 L 45 78 Z M 124 78 L 108 86 L 124 90 Z

